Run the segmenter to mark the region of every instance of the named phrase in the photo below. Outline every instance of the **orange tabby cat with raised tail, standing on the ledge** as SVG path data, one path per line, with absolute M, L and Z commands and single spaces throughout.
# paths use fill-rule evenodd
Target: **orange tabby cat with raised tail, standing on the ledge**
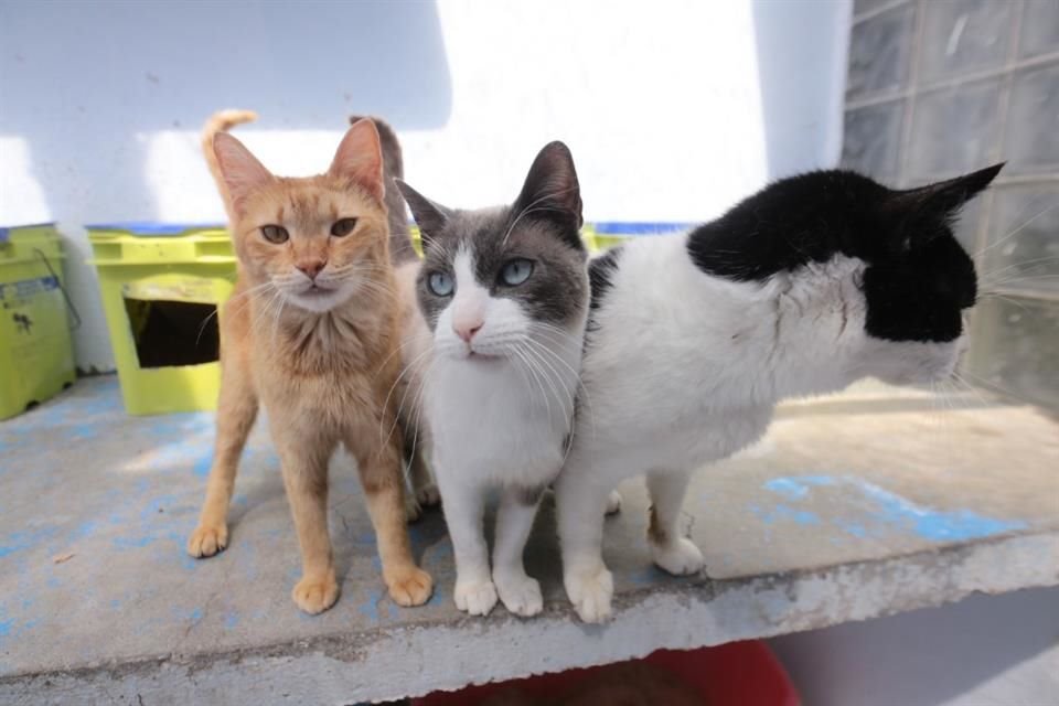
M 402 434 L 386 402 L 400 373 L 400 306 L 378 132 L 371 120 L 357 121 L 327 173 L 292 179 L 272 175 L 225 132 L 253 118 L 217 114 L 203 136 L 239 266 L 220 320 L 213 467 L 188 550 L 207 557 L 227 545 L 236 464 L 264 404 L 301 546 L 298 607 L 319 613 L 339 596 L 327 499 L 340 443 L 357 461 L 389 596 L 418 606 L 432 581 L 411 558 Z

